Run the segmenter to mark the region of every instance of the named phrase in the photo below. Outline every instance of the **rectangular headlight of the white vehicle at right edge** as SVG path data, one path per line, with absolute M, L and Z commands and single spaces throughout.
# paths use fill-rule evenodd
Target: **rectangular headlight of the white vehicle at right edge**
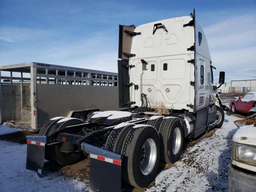
M 236 160 L 251 165 L 256 165 L 256 147 L 236 144 Z

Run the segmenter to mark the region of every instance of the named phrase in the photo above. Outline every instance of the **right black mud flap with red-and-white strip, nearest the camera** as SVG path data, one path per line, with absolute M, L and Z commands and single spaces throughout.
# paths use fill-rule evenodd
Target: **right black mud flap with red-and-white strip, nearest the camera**
M 81 148 L 90 153 L 88 192 L 120 192 L 122 156 L 87 143 L 82 143 Z

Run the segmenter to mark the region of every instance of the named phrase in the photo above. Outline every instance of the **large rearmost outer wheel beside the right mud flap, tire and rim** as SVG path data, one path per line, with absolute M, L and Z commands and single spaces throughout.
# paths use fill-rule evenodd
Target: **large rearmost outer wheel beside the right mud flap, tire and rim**
M 152 126 L 136 125 L 122 145 L 122 178 L 136 187 L 146 187 L 155 178 L 160 161 L 160 140 Z

